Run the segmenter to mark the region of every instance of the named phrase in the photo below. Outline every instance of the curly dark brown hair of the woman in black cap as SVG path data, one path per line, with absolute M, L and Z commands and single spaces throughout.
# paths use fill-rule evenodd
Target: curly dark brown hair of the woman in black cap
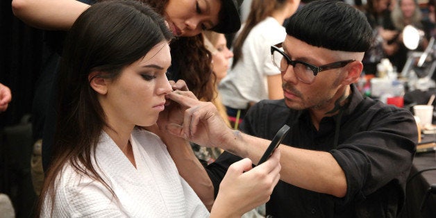
M 168 0 L 140 0 L 165 15 Z M 178 66 L 180 79 L 183 79 L 190 91 L 204 101 L 214 99 L 215 74 L 212 72 L 212 54 L 203 43 L 201 33 L 192 37 L 178 37 L 169 45 L 171 57 Z M 209 80 L 214 81 L 210 83 Z

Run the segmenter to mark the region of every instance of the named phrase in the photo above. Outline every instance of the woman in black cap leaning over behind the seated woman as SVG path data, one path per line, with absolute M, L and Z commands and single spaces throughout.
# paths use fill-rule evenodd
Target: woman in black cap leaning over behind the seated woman
M 83 0 L 84 1 L 84 0 Z M 214 84 L 210 67 L 210 52 L 203 45 L 201 31 L 211 29 L 220 33 L 235 32 L 240 28 L 237 8 L 241 0 L 142 0 L 162 15 L 176 39 L 171 42 L 174 58 L 169 69 L 169 79 L 183 79 L 196 97 L 211 101 Z M 47 30 L 68 30 L 76 18 L 89 5 L 75 0 L 12 0 L 12 11 L 26 24 Z M 56 17 L 56 19 L 53 19 Z M 56 63 L 55 63 L 56 65 Z M 56 70 L 49 76 L 56 75 Z M 53 76 L 56 77 L 56 76 Z M 53 79 L 56 81 L 56 78 Z M 49 85 L 50 86 L 50 85 Z M 46 88 L 47 89 L 47 88 Z M 51 92 L 56 94 L 56 90 Z M 45 96 L 35 94 L 35 97 Z M 46 97 L 47 98 L 47 97 Z M 51 97 L 55 99 L 56 97 Z M 44 99 L 46 100 L 46 99 Z M 41 101 L 38 101 L 41 102 Z M 47 102 L 47 104 L 50 104 Z M 41 107 L 41 106 L 40 106 Z M 47 169 L 53 144 L 53 107 L 47 106 L 42 139 L 42 161 Z

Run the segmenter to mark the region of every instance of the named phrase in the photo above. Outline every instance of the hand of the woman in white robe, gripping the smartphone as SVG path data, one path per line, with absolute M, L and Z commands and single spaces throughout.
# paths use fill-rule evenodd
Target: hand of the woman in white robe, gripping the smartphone
M 245 158 L 230 165 L 219 185 L 210 217 L 241 217 L 269 201 L 280 179 L 280 151 L 276 149 L 269 160 L 253 169 L 251 164 Z

